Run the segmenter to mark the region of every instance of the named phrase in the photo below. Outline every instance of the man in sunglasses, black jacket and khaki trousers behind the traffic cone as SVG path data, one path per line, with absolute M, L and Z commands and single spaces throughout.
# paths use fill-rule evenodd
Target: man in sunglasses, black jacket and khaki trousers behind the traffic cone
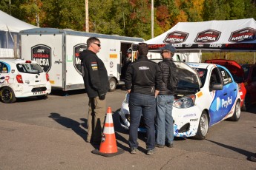
M 82 77 L 89 98 L 88 136 L 87 142 L 98 145 L 102 138 L 102 128 L 105 119 L 105 95 L 109 89 L 108 72 L 104 63 L 96 55 L 101 49 L 98 38 L 87 40 L 88 50 L 79 53 L 82 67 Z

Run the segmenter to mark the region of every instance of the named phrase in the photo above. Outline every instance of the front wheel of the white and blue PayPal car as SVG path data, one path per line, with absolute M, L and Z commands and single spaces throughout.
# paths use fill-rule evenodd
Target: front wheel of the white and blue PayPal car
M 197 129 L 197 135 L 195 137 L 200 140 L 205 139 L 208 129 L 209 129 L 209 118 L 206 111 L 203 111 L 200 117 L 200 122 Z

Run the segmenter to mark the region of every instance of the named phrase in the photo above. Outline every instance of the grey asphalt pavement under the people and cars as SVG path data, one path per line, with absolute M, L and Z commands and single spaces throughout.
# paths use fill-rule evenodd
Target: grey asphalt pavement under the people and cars
M 128 132 L 119 126 L 125 91 L 108 92 L 116 142 L 123 154 L 102 157 L 85 142 L 88 97 L 83 90 L 53 92 L 46 100 L 0 103 L 0 170 L 5 169 L 256 169 L 247 157 L 256 152 L 256 107 L 238 122 L 225 120 L 209 129 L 206 140 L 175 137 L 174 148 L 130 154 Z

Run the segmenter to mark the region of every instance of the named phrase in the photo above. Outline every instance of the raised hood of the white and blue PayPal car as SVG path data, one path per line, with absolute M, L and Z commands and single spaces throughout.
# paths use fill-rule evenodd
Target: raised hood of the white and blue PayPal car
M 182 86 L 186 86 L 188 88 L 188 84 L 194 84 L 194 86 L 191 86 L 191 88 L 200 88 L 202 83 L 197 71 L 184 62 L 174 62 L 174 64 L 177 66 L 178 76 L 180 79 L 178 88 Z M 188 84 L 186 82 L 188 82 Z

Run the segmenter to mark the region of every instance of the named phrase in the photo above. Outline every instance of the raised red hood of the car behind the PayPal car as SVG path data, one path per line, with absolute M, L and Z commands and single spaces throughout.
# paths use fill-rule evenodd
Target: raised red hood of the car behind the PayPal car
M 225 60 L 225 59 L 214 59 L 214 60 L 206 60 L 206 63 L 219 64 L 223 67 L 229 69 L 229 72 L 240 78 L 244 78 L 243 67 L 240 66 L 236 61 Z

